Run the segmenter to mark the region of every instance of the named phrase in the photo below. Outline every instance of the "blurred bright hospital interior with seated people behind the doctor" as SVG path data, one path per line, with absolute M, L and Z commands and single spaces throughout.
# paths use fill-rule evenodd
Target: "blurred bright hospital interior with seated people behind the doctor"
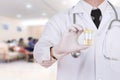
M 0 0 L 0 80 L 55 80 L 56 63 L 48 69 L 32 51 L 47 21 L 79 0 Z M 110 0 L 120 6 L 119 0 Z

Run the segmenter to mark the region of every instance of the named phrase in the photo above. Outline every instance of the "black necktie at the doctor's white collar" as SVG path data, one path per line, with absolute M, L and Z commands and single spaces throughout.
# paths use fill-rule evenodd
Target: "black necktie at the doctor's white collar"
M 99 25 L 100 25 L 100 22 L 102 19 L 102 14 L 101 14 L 100 9 L 93 9 L 91 11 L 91 17 L 92 17 L 92 20 L 95 23 L 96 27 L 99 28 Z

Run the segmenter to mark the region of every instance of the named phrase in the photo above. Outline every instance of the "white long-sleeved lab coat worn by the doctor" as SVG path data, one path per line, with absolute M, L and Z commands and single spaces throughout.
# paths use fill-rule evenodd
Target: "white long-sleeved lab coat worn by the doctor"
M 64 31 L 73 24 L 73 13 L 77 13 L 76 24 L 94 31 L 92 35 L 93 45 L 89 49 L 81 51 L 79 58 L 73 58 L 69 54 L 59 60 L 57 80 L 120 80 L 120 61 L 106 59 L 102 50 L 105 32 L 110 21 L 115 18 L 112 8 L 110 6 L 106 8 L 102 22 L 99 29 L 97 29 L 91 17 L 79 5 L 67 12 L 54 16 L 48 22 L 41 39 L 34 49 L 36 61 L 41 63 L 43 60 L 50 59 L 50 47 L 60 41 Z M 118 14 L 120 14 L 119 11 Z M 112 26 L 120 27 L 120 23 L 115 22 Z M 110 39 L 116 38 L 118 39 L 118 44 L 120 44 L 119 28 L 116 27 L 111 33 L 113 33 L 113 37 L 110 37 Z M 78 39 L 80 44 L 83 43 L 83 37 L 84 35 L 82 34 Z M 118 53 L 115 55 L 113 53 L 112 56 L 120 57 L 120 52 Z M 111 56 L 111 54 L 105 55 Z

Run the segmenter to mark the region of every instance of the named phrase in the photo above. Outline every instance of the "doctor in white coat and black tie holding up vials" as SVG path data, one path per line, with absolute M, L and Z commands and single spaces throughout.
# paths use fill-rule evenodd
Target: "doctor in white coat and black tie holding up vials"
M 105 58 L 102 50 L 113 19 L 115 14 L 107 0 L 80 0 L 47 23 L 34 49 L 35 60 L 44 67 L 57 61 L 57 80 L 120 80 L 120 61 Z M 91 45 L 83 44 L 84 29 L 93 31 Z M 71 53 L 80 56 L 74 58 Z

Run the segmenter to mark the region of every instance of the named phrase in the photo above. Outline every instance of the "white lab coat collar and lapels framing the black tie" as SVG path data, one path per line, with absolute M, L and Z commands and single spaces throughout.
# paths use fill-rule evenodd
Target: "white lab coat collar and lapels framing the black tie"
M 87 3 L 85 5 L 87 5 Z M 88 5 L 88 7 L 90 7 L 89 9 L 93 9 L 93 7 L 91 7 L 90 5 Z M 91 24 L 91 26 L 94 26 L 93 27 L 94 30 L 96 30 L 97 32 L 100 32 L 103 29 L 103 27 L 105 26 L 105 24 L 114 16 L 114 12 L 111 9 L 111 6 L 107 2 L 107 0 L 105 0 L 101 5 L 99 5 L 98 8 L 101 9 L 102 15 L 103 15 L 103 18 L 104 18 L 104 19 L 102 18 L 99 29 L 96 28 L 95 24 L 93 23 L 93 21 L 90 17 L 90 14 L 88 14 L 85 11 L 85 8 L 84 8 L 83 3 L 81 1 L 79 1 L 78 4 L 73 7 L 72 13 L 73 14 L 76 14 L 76 13 L 81 14 L 84 17 L 84 19 L 89 24 Z M 108 10 L 106 10 L 106 9 L 108 9 Z M 107 18 L 106 18 L 106 16 L 107 16 Z

